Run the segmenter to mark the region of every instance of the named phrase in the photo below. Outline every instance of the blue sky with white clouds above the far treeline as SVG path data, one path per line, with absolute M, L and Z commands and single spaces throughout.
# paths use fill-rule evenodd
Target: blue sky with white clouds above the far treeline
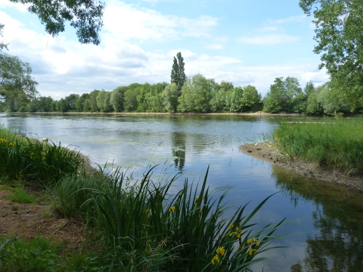
M 320 85 L 329 77 L 313 53 L 312 19 L 298 0 L 107 0 L 95 46 L 80 44 L 69 25 L 52 37 L 25 5 L 0 0 L 8 53 L 29 62 L 39 93 L 55 99 L 170 82 L 178 52 L 188 77 L 251 84 L 262 95 L 277 77 Z

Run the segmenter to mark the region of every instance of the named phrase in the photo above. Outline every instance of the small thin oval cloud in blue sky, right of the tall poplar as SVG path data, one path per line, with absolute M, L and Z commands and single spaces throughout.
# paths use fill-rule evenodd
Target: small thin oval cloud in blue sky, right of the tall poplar
M 244 44 L 252 45 L 276 45 L 282 43 L 294 43 L 299 40 L 300 37 L 288 35 L 286 33 L 244 36 L 238 39 L 238 41 Z

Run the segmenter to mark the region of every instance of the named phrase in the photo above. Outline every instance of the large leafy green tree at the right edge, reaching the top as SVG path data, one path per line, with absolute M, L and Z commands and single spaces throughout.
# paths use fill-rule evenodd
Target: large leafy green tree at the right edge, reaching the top
M 339 100 L 356 109 L 363 106 L 363 3 L 362 0 L 300 0 L 307 15 L 313 12 L 319 68 L 330 75 L 335 104 Z

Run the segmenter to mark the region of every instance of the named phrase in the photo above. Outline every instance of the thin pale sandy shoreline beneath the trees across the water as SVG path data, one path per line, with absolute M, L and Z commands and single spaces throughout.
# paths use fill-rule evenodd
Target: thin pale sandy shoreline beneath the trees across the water
M 0 112 L 10 114 L 107 114 L 107 115 L 247 115 L 247 116 L 307 116 L 304 113 L 267 113 L 267 112 Z

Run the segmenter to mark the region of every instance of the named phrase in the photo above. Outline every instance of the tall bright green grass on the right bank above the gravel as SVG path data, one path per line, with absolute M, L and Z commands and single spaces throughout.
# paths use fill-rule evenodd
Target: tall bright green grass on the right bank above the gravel
M 329 119 L 326 124 L 281 122 L 273 137 L 281 152 L 345 172 L 363 171 L 363 118 Z

